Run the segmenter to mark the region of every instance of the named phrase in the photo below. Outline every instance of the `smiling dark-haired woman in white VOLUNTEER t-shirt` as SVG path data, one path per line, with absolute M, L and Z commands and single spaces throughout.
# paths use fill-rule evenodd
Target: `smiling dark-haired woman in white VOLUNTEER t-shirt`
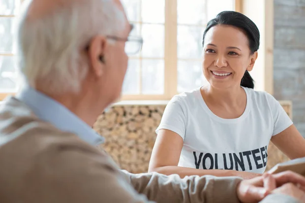
M 202 70 L 208 84 L 171 99 L 149 171 L 253 178 L 265 172 L 270 141 L 289 158 L 305 156 L 305 140 L 279 101 L 253 89 L 249 72 L 259 41 L 257 26 L 241 13 L 221 12 L 207 23 Z

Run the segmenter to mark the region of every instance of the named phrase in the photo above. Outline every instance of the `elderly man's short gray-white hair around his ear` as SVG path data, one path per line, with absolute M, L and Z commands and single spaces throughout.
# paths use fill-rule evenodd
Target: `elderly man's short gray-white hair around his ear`
M 21 75 L 33 87 L 43 81 L 40 88 L 52 94 L 78 93 L 89 66 L 81 55 L 86 44 L 96 35 L 115 35 L 125 25 L 124 13 L 111 0 L 74 1 L 29 20 L 26 12 L 18 25 Z

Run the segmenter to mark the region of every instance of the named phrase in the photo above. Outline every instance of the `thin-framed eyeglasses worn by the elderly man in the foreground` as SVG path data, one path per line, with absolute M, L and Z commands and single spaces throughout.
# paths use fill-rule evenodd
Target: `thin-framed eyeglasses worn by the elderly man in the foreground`
M 125 42 L 125 53 L 127 55 L 134 55 L 142 50 L 143 38 L 141 37 L 129 36 L 128 38 L 119 38 L 116 36 L 106 36 L 106 38 Z M 86 50 L 88 49 L 89 45 L 86 47 Z

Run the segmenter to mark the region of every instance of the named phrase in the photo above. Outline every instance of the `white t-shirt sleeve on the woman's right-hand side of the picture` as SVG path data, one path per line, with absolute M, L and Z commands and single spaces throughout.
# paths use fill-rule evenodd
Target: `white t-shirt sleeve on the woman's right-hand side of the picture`
M 289 126 L 293 124 L 292 120 L 285 112 L 284 108 L 281 106 L 279 101 L 275 99 L 271 94 L 268 94 L 268 103 L 273 116 L 273 134 L 272 136 L 276 136 L 280 132 L 287 129 Z

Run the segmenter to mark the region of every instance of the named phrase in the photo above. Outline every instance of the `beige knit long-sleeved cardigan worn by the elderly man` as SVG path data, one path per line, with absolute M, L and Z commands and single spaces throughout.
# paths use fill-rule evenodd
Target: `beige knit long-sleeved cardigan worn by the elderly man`
M 14 97 L 0 106 L 0 202 L 239 202 L 234 177 L 121 171 L 102 150 L 40 120 Z M 277 200 L 280 198 L 280 200 Z M 269 200 L 268 200 L 269 199 Z M 263 202 L 294 202 L 270 195 Z

